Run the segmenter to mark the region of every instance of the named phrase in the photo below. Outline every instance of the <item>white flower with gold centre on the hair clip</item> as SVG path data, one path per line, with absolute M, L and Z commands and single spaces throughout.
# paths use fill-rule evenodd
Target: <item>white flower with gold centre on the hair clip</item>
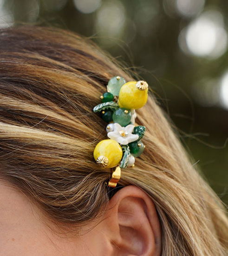
M 108 137 L 112 140 L 117 141 L 121 145 L 127 145 L 132 141 L 137 141 L 138 135 L 132 134 L 134 129 L 133 124 L 129 124 L 126 127 L 122 127 L 118 123 L 113 124 L 113 131 L 108 132 Z

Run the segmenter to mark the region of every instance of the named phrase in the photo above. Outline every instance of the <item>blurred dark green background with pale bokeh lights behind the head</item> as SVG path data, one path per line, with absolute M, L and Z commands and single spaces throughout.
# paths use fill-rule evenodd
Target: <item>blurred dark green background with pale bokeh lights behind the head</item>
M 90 36 L 142 76 L 228 203 L 227 0 L 0 0 L 0 27 L 20 22 Z

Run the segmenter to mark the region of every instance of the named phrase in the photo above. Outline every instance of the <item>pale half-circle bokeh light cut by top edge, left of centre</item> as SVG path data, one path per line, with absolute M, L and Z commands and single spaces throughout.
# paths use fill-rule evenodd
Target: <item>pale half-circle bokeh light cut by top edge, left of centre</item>
M 81 13 L 93 13 L 101 5 L 101 0 L 74 0 L 74 5 Z

